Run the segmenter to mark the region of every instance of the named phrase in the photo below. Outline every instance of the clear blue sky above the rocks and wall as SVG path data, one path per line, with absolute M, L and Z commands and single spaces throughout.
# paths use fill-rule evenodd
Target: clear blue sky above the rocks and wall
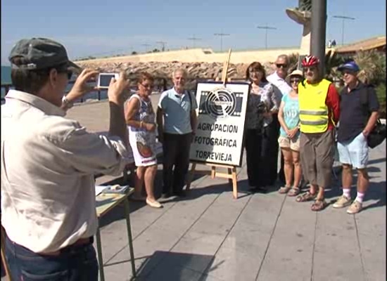
M 109 3 L 109 4 L 106 4 Z M 365 4 L 364 4 L 365 3 Z M 298 0 L 2 0 L 1 65 L 15 41 L 25 37 L 49 37 L 60 41 L 71 58 L 102 56 L 184 46 L 223 50 L 265 48 L 269 25 L 269 48 L 299 46 L 302 28 L 285 13 Z M 345 42 L 386 35 L 385 0 L 328 0 L 326 39 L 341 43 L 342 22 L 333 15 L 356 20 L 345 23 Z M 188 38 L 201 40 L 189 40 Z M 151 46 L 144 46 L 149 44 Z

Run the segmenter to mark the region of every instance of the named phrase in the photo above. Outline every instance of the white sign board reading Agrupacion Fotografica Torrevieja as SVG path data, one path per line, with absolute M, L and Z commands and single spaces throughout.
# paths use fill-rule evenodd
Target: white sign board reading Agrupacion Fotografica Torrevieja
M 198 126 L 191 161 L 241 166 L 249 92 L 248 83 L 198 83 Z

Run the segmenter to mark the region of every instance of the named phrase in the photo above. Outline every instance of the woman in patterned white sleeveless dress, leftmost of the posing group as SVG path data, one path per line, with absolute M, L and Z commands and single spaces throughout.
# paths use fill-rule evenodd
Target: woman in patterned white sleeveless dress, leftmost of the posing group
M 153 192 L 157 173 L 156 116 L 149 98 L 153 81 L 151 74 L 146 72 L 140 74 L 139 91 L 129 98 L 125 119 L 129 129 L 129 143 L 137 166 L 132 199 L 145 200 L 149 206 L 161 208 L 163 205 L 156 200 Z M 146 198 L 141 196 L 144 182 Z

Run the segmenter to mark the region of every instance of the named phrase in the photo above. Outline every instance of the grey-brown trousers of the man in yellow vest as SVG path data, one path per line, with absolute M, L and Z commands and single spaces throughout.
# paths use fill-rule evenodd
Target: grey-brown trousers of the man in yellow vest
M 304 178 L 312 185 L 326 188 L 331 183 L 334 164 L 334 132 L 301 133 L 300 158 Z

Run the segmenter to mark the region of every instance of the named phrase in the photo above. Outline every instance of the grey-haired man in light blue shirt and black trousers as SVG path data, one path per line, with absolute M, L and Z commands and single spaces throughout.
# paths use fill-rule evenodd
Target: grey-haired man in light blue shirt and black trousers
M 189 149 L 196 131 L 196 98 L 184 88 L 186 71 L 172 73 L 174 87 L 161 94 L 158 110 L 158 140 L 163 143 L 163 197 L 183 197 L 189 168 Z M 175 169 L 173 169 L 175 166 Z

